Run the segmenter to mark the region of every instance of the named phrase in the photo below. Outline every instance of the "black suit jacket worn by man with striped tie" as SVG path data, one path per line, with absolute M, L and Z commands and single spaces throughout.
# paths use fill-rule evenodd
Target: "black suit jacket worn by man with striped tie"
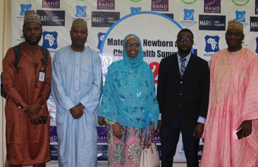
M 161 60 L 158 70 L 157 100 L 162 125 L 169 126 L 179 113 L 181 124 L 194 128 L 198 117 L 206 118 L 209 104 L 208 62 L 191 54 L 183 77 L 177 53 Z

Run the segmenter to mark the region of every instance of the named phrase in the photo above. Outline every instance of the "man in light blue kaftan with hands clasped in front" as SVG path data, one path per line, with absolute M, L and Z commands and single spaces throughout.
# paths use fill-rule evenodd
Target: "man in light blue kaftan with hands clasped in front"
M 72 45 L 56 52 L 52 69 L 59 166 L 97 167 L 101 59 L 84 46 L 87 24 L 83 19 L 73 21 L 70 36 Z

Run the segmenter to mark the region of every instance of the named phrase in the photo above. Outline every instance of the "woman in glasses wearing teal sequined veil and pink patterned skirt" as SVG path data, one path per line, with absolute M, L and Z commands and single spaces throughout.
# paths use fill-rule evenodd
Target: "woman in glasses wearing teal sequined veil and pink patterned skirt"
M 141 40 L 127 35 L 123 49 L 123 59 L 108 67 L 99 115 L 108 124 L 108 165 L 136 167 L 146 133 L 154 136 L 159 108 Z

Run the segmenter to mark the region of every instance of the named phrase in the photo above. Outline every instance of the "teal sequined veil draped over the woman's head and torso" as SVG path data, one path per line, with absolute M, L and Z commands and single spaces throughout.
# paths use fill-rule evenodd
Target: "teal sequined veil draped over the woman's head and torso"
M 108 67 L 99 115 L 124 126 L 146 127 L 148 131 L 150 121 L 157 126 L 159 108 L 154 75 L 143 61 L 141 40 L 136 38 L 140 43 L 138 56 L 127 56 L 123 44 L 123 59 Z

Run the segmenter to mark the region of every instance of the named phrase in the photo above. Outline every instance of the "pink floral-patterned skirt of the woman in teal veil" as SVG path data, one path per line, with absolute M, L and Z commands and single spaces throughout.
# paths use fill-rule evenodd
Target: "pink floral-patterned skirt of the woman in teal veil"
M 141 149 L 146 138 L 145 128 L 123 126 L 120 129 L 122 138 L 113 135 L 113 126 L 108 127 L 107 149 L 109 167 L 138 167 Z

